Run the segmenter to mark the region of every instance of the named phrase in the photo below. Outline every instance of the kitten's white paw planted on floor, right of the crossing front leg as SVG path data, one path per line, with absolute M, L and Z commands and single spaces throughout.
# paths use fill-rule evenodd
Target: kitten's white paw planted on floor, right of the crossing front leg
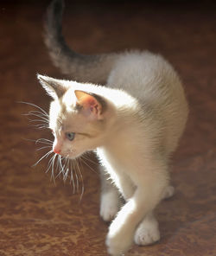
M 134 241 L 138 246 L 148 246 L 160 240 L 158 223 L 154 221 L 143 221 L 138 227 Z

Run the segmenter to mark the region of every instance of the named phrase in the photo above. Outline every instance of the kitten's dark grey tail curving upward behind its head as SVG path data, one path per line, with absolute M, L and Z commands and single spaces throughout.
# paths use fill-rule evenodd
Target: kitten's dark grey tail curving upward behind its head
M 118 54 L 84 55 L 69 48 L 62 35 L 63 9 L 63 1 L 54 0 L 48 7 L 45 22 L 45 43 L 54 65 L 73 80 L 104 84 Z

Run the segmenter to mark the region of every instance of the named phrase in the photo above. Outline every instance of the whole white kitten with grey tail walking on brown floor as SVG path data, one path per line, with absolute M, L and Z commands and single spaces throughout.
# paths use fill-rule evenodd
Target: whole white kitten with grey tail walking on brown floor
M 144 246 L 160 240 L 154 209 L 174 194 L 168 163 L 187 123 L 187 99 L 160 54 L 82 55 L 68 48 L 61 34 L 63 5 L 54 0 L 48 8 L 45 42 L 54 65 L 73 80 L 38 74 L 53 98 L 53 150 L 71 159 L 97 152 L 100 215 L 111 221 L 105 243 L 117 256 L 133 241 Z

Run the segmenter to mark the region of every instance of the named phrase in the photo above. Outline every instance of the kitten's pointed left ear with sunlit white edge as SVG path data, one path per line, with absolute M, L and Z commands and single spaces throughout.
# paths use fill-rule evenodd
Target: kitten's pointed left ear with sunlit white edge
M 45 75 L 37 74 L 37 79 L 41 86 L 47 91 L 48 95 L 53 99 L 59 99 L 67 91 L 61 80 L 54 79 Z

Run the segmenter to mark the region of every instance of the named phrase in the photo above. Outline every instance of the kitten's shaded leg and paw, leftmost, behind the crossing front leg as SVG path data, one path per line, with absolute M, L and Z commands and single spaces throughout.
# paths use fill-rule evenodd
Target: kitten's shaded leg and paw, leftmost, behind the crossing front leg
M 111 183 L 110 177 L 101 168 L 100 216 L 104 221 L 111 221 L 118 213 L 120 197 L 118 189 Z

